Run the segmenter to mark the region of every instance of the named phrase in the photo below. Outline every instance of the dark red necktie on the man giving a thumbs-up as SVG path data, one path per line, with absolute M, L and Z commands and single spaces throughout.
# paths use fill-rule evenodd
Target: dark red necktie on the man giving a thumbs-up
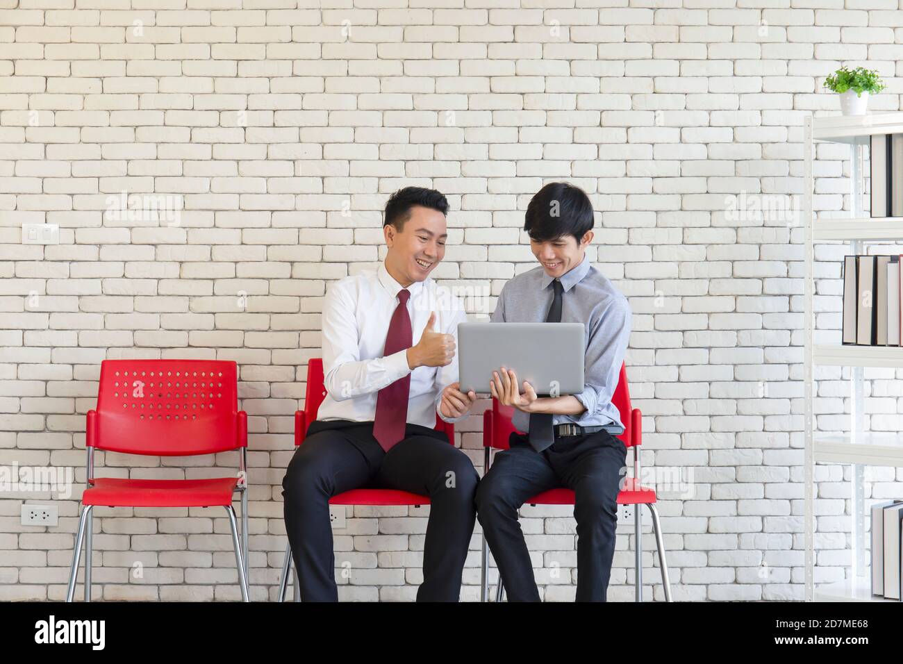
M 405 288 L 398 291 L 398 306 L 389 321 L 389 332 L 386 334 L 386 350 L 383 357 L 404 351 L 411 347 L 411 316 L 407 313 L 407 298 L 411 292 Z M 373 421 L 373 437 L 380 446 L 389 448 L 405 437 L 407 424 L 407 399 L 411 392 L 411 374 L 386 385 L 377 394 L 377 415 Z

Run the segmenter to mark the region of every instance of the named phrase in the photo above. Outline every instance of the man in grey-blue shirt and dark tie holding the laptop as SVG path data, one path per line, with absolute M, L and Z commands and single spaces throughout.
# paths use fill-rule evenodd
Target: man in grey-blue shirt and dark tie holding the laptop
M 630 305 L 586 257 L 593 234 L 587 195 L 565 182 L 535 194 L 524 229 L 539 267 L 502 288 L 497 323 L 583 323 L 585 385 L 579 394 L 536 397 L 526 381 L 499 367 L 492 396 L 514 407 L 519 432 L 496 454 L 477 488 L 478 519 L 511 601 L 538 602 L 539 593 L 517 510 L 557 487 L 573 489 L 577 519 L 577 601 L 604 602 L 614 556 L 617 497 L 627 449 L 611 397 L 630 336 Z M 549 349 L 554 353 L 554 349 Z

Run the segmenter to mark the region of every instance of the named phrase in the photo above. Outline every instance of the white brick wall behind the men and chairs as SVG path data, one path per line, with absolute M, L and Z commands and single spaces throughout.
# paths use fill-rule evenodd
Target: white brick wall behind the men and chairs
M 692 498 L 659 505 L 675 598 L 801 599 L 803 235 L 726 210 L 741 191 L 801 191 L 803 117 L 837 108 L 821 83 L 841 61 L 880 70 L 889 89 L 872 108 L 898 108 L 901 27 L 898 0 L 0 0 L 0 459 L 76 468 L 57 528 L 23 527 L 23 497 L 0 500 L 0 599 L 63 597 L 84 413 L 100 360 L 123 357 L 239 363 L 252 597 L 273 599 L 292 414 L 326 285 L 383 257 L 380 210 L 418 184 L 452 204 L 435 276 L 497 295 L 533 265 L 523 210 L 552 180 L 590 193 L 591 258 L 635 313 L 644 465 L 694 473 Z M 840 210 L 845 154 L 818 154 L 816 209 Z M 181 218 L 105 217 L 120 192 L 163 197 Z M 23 222 L 59 224 L 60 244 L 23 246 Z M 839 276 L 842 253 L 821 248 L 819 276 Z M 819 325 L 836 328 L 836 285 L 825 293 Z M 868 375 L 871 424 L 898 429 L 894 371 Z M 849 407 L 841 372 L 821 376 L 816 412 Z M 481 466 L 479 416 L 458 430 Z M 98 454 L 98 474 L 233 463 Z M 816 578 L 830 581 L 849 475 L 816 477 L 828 549 Z M 898 495 L 892 469 L 871 479 L 872 495 Z M 413 599 L 427 513 L 349 509 L 340 597 Z M 573 599 L 569 513 L 522 511 L 547 600 Z M 98 599 L 237 599 L 218 511 L 97 517 Z M 611 600 L 632 599 L 631 532 L 619 530 Z M 464 583 L 476 599 L 479 526 Z

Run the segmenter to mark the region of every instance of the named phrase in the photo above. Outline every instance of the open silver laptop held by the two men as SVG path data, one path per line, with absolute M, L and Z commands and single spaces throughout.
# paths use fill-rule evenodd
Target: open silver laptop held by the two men
M 583 391 L 583 323 L 460 323 L 458 368 L 461 391 L 491 394 L 493 370 L 514 369 L 539 397 Z

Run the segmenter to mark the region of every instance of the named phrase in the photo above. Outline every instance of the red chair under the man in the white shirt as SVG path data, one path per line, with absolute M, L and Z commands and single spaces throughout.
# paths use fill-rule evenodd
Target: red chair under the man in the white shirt
M 304 409 L 294 412 L 294 444 L 304 442 L 307 427 L 317 419 L 317 411 L 326 397 L 326 388 L 323 387 L 323 360 L 312 358 L 307 364 L 307 391 L 304 394 Z M 449 443 L 454 444 L 454 425 L 448 424 L 442 417 L 436 416 L 436 431 L 442 431 L 448 436 Z M 397 489 L 352 489 L 338 493 L 330 498 L 330 505 L 429 505 L 430 499 L 410 491 Z M 288 586 L 288 573 L 292 568 L 292 545 L 285 546 L 285 558 L 283 561 L 282 578 L 279 582 L 279 601 L 285 601 L 285 589 Z M 294 575 L 294 601 L 300 599 L 298 593 L 298 575 Z

